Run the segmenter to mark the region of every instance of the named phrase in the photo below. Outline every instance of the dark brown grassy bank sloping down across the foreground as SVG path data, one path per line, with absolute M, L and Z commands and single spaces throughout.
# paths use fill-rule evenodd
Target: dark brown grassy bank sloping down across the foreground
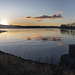
M 24 60 L 0 51 L 0 75 L 74 75 L 74 72 L 63 66 Z

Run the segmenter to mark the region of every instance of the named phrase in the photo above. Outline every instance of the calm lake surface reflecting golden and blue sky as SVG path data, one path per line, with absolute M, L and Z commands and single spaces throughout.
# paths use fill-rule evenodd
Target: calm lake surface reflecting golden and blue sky
M 68 54 L 69 44 L 75 44 L 75 30 L 60 29 L 0 29 L 0 50 L 24 59 L 58 63 Z

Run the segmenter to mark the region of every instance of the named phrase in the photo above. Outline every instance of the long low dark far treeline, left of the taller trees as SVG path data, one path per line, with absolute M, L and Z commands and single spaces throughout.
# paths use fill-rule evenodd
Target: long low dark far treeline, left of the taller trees
M 58 26 L 20 26 L 20 25 L 0 25 L 0 28 L 59 28 Z

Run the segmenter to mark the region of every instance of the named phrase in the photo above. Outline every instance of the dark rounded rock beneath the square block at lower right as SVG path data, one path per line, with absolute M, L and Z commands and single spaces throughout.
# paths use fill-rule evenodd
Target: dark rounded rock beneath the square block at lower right
M 63 68 L 75 69 L 75 58 L 70 57 L 69 54 L 62 55 L 59 65 Z

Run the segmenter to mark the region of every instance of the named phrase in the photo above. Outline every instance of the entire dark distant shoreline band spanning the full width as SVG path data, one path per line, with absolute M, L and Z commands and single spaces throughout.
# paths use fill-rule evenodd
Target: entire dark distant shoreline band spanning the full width
M 75 27 L 68 27 L 66 25 L 61 26 L 20 26 L 20 25 L 0 25 L 0 29 L 31 29 L 31 28 L 59 28 L 74 30 Z

